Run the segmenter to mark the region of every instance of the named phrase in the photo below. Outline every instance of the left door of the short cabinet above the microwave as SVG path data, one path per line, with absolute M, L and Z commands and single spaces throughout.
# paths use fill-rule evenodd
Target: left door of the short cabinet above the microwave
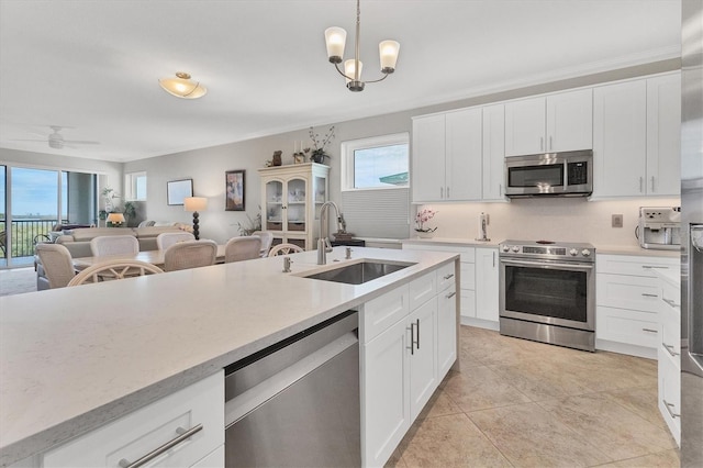
M 505 104 L 505 156 L 545 152 L 545 98 Z

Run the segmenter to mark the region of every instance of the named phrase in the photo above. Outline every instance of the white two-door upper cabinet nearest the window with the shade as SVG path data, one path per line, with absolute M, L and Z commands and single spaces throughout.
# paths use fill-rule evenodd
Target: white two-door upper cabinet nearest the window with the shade
M 481 198 L 481 109 L 413 119 L 413 201 Z

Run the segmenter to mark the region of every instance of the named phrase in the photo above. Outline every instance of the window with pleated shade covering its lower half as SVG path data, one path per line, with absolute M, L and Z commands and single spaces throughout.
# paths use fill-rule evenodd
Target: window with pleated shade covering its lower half
M 357 237 L 408 237 L 408 140 L 399 133 L 342 143 L 342 212 Z

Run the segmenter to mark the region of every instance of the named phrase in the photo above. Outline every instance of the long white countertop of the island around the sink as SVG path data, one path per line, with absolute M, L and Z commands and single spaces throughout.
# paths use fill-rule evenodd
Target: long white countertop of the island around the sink
M 0 466 L 183 388 L 457 258 L 355 247 L 412 261 L 365 285 L 297 277 L 344 247 L 0 298 Z M 347 260 L 343 260 L 347 261 Z

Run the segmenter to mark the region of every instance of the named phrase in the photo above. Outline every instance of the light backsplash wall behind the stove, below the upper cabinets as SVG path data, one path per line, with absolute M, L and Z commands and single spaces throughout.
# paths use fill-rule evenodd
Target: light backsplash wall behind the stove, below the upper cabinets
M 507 238 L 589 242 L 598 245 L 637 246 L 635 227 L 639 207 L 678 207 L 678 198 L 588 201 L 584 198 L 514 199 L 510 203 L 447 203 L 417 205 L 437 211 L 435 236 L 476 238 L 479 215 L 490 216 L 488 236 Z M 623 215 L 623 227 L 612 227 L 613 214 Z

